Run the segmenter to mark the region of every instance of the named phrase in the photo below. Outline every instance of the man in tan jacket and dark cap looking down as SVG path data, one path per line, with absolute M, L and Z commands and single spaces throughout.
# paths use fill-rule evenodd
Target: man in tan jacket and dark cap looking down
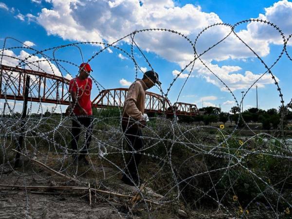
M 158 80 L 158 74 L 154 71 L 147 71 L 144 73 L 142 80 L 137 79 L 130 85 L 124 103 L 122 129 L 125 133 L 128 149 L 132 151 L 132 154 L 127 162 L 122 181 L 129 185 L 136 184 L 138 186 L 141 183 L 138 174 L 141 154 L 137 154 L 136 151 L 139 151 L 144 146 L 141 128 L 146 126 L 146 120 L 143 116 L 145 91 L 152 88 L 155 83 L 161 85 Z

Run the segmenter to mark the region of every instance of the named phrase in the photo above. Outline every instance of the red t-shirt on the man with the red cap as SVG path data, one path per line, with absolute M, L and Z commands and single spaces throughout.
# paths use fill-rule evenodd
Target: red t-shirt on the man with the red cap
M 75 91 L 78 98 L 79 105 L 86 110 L 88 115 L 92 115 L 91 110 L 91 94 L 92 80 L 91 78 L 86 78 L 84 80 L 78 77 L 73 78 L 69 83 L 69 92 Z M 76 115 L 80 115 L 80 111 L 77 107 L 74 107 L 73 112 Z

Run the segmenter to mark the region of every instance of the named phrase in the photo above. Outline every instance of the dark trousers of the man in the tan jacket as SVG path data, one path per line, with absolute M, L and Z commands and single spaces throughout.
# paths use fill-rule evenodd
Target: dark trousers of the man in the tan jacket
M 133 153 L 130 155 L 130 158 L 128 159 L 127 162 L 127 167 L 128 170 L 126 169 L 126 173 L 128 172 L 132 178 L 137 178 L 138 177 L 138 165 L 140 163 L 141 154 L 135 153 L 135 150 L 139 150 L 144 146 L 144 141 L 142 138 L 142 131 L 141 128 L 138 127 L 128 127 L 123 125 L 123 132 L 125 133 L 126 136 L 126 141 L 128 145 L 129 151 L 132 151 Z

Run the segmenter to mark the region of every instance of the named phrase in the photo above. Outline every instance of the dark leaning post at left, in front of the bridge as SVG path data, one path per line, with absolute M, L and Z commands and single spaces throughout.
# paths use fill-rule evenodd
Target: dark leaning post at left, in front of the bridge
M 26 75 L 25 91 L 24 91 L 24 104 L 23 104 L 23 110 L 22 110 L 22 115 L 21 115 L 20 133 L 19 133 L 19 138 L 18 138 L 18 142 L 17 142 L 17 150 L 19 152 L 21 151 L 22 142 L 23 142 L 23 132 L 24 132 L 24 125 L 25 125 L 24 119 L 25 119 L 26 114 L 27 114 L 27 100 L 28 100 L 29 84 L 30 84 L 30 76 Z M 16 153 L 14 168 L 19 167 L 19 158 L 20 158 L 20 154 Z

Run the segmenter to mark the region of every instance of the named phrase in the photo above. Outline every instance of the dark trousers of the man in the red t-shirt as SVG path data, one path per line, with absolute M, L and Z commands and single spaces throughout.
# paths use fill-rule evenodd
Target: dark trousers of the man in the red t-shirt
M 77 119 L 76 119 L 77 118 Z M 86 154 L 88 152 L 88 148 L 91 142 L 91 134 L 92 134 L 92 118 L 91 117 L 83 117 L 83 116 L 76 116 L 72 120 L 72 130 L 71 133 L 73 138 L 71 140 L 71 147 L 73 150 L 78 150 L 78 140 L 81 128 L 86 128 L 86 136 L 85 136 L 85 143 L 80 151 L 80 153 Z

